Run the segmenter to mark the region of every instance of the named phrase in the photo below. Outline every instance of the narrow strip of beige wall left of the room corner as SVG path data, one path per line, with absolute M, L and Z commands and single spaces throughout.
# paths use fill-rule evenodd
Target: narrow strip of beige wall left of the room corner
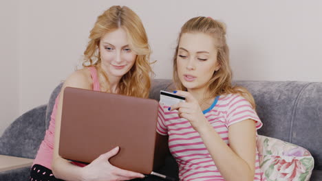
M 0 136 L 4 128 L 19 115 L 17 5 L 17 1 L 0 1 Z

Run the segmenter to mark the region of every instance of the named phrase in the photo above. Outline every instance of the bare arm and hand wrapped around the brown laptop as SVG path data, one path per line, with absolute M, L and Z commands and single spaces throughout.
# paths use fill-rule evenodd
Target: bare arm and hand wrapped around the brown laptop
M 126 171 L 109 164 L 109 158 L 118 153 L 118 147 L 102 154 L 86 167 L 78 167 L 58 155 L 59 136 L 61 131 L 61 111 L 63 105 L 63 90 L 65 87 L 92 89 L 92 82 L 84 71 L 76 71 L 65 81 L 59 95 L 58 109 L 55 121 L 55 143 L 52 161 L 52 172 L 56 178 L 63 180 L 130 180 L 144 177 L 140 173 Z

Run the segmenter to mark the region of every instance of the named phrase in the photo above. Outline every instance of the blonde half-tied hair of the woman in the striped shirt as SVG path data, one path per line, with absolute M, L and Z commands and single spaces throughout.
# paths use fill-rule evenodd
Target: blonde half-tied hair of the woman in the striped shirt
M 178 45 L 175 49 L 173 57 L 173 82 L 178 90 L 186 90 L 184 85 L 180 82 L 177 69 L 177 56 L 180 38 L 184 33 L 204 33 L 212 36 L 215 40 L 215 47 L 217 49 L 217 61 L 220 69 L 213 73 L 213 77 L 206 84 L 208 89 L 208 97 L 205 99 L 216 97 L 217 95 L 239 94 L 245 97 L 255 109 L 255 100 L 253 96 L 241 86 L 232 86 L 231 78 L 232 71 L 229 63 L 229 49 L 226 43 L 226 26 L 224 23 L 216 21 L 210 17 L 198 16 L 190 19 L 181 28 L 178 38 Z

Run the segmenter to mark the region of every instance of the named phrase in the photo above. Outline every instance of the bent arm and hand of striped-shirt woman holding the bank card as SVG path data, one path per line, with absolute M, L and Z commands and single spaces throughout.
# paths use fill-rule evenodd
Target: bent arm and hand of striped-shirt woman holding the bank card
M 191 123 L 199 132 L 204 145 L 225 180 L 254 180 L 256 154 L 255 121 L 247 119 L 228 128 L 229 146 L 208 122 L 198 101 L 188 92 L 178 91 L 186 97 L 186 102 L 171 106 L 179 116 Z

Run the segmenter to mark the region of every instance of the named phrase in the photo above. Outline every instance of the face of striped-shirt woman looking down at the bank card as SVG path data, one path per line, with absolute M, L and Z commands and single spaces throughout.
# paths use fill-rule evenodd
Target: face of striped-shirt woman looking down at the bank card
M 204 89 L 219 70 L 215 39 L 203 33 L 184 33 L 177 56 L 178 76 L 188 90 Z

